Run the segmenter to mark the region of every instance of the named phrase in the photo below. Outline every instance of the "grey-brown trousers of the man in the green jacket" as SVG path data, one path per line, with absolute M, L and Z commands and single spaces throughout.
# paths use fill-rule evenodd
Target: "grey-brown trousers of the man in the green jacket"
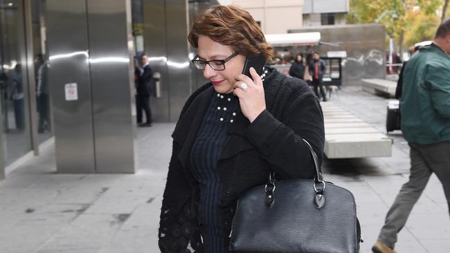
M 386 215 L 386 221 L 378 239 L 389 247 L 394 247 L 397 234 L 406 224 L 408 216 L 419 199 L 431 174 L 436 174 L 447 198 L 450 211 L 450 142 L 435 144 L 409 143 L 411 174 L 400 189 L 397 198 Z

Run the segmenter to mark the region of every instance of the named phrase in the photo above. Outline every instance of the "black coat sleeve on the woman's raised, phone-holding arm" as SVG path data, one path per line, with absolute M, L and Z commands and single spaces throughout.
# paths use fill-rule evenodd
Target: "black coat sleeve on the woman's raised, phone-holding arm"
M 263 111 L 250 124 L 246 136 L 282 178 L 314 178 L 314 160 L 302 139 L 312 145 L 320 165 L 325 142 L 321 106 L 310 94 L 290 108 L 285 123 Z

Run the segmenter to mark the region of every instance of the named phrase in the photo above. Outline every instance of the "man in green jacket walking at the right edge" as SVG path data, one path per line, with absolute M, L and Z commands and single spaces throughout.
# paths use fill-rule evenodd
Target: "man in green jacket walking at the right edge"
M 447 19 L 439 26 L 433 43 L 420 48 L 404 70 L 400 109 L 403 135 L 411 149 L 411 174 L 386 215 L 373 252 L 395 252 L 397 233 L 404 227 L 432 173 L 442 182 L 449 203 L 449 54 L 450 19 Z

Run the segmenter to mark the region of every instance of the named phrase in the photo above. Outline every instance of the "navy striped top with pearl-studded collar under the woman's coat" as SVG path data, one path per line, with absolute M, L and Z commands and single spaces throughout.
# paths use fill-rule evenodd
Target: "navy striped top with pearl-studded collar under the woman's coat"
M 199 222 L 204 252 L 228 252 L 228 245 L 222 242 L 219 215 L 222 182 L 217 161 L 228 140 L 226 129 L 233 123 L 238 110 L 239 100 L 233 93 L 214 93 L 190 153 L 190 169 L 200 188 Z

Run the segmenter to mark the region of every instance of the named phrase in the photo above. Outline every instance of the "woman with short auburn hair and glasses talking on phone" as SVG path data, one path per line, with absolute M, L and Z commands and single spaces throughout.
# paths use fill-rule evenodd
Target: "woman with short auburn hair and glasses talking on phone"
M 206 10 L 188 40 L 198 53 L 192 63 L 210 82 L 189 97 L 172 134 L 159 247 L 228 252 L 240 194 L 267 182 L 271 170 L 277 179 L 314 178 L 302 139 L 321 162 L 323 115 L 307 84 L 265 65 L 273 47 L 246 10 Z

